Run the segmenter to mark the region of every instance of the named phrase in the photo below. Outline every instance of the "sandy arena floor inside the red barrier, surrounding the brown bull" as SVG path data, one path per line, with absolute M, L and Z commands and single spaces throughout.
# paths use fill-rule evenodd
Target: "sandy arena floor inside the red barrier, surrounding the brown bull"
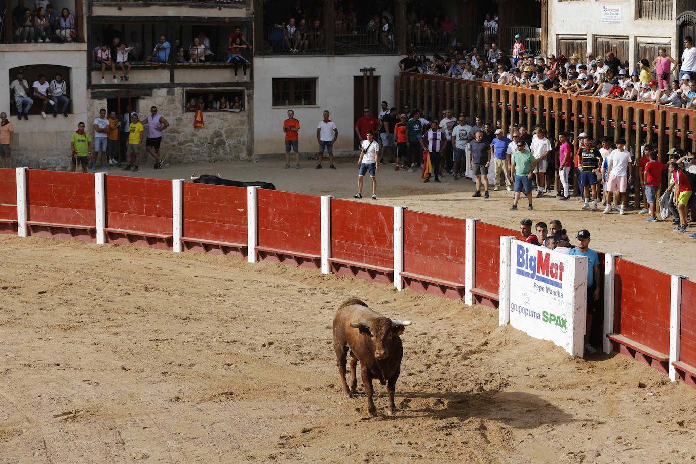
M 129 246 L 0 236 L 0 259 L 3 464 L 696 459 L 696 390 L 571 359 L 485 307 Z M 414 321 L 395 417 L 340 392 L 331 319 L 351 296 Z

